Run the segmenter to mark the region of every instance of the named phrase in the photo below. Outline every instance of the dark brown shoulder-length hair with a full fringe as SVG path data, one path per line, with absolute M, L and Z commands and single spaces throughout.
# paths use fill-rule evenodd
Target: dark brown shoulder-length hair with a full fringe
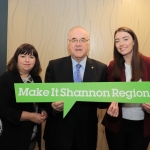
M 39 61 L 38 52 L 33 45 L 28 43 L 22 44 L 17 48 L 16 52 L 14 53 L 14 56 L 10 59 L 10 61 L 7 64 L 7 70 L 19 72 L 17 67 L 19 54 L 31 54 L 35 57 L 35 65 L 30 71 L 30 74 L 35 76 L 39 75 L 42 69 Z

